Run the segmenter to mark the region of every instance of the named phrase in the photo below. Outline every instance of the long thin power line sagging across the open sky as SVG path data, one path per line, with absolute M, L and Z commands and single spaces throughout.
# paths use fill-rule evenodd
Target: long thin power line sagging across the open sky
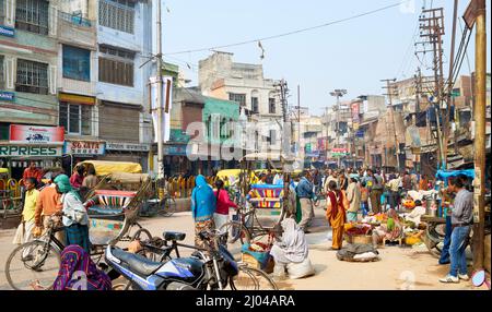
M 279 34 L 279 35 L 273 35 L 273 36 L 268 36 L 268 37 L 262 37 L 262 38 L 257 38 L 257 39 L 235 43 L 235 44 L 214 46 L 214 47 L 210 47 L 210 48 L 200 48 L 200 49 L 191 49 L 191 50 L 168 52 L 168 53 L 164 53 L 164 55 L 172 56 L 172 55 L 202 52 L 202 51 L 210 51 L 210 50 L 215 50 L 215 49 L 223 49 L 223 48 L 231 48 L 231 47 L 236 47 L 236 46 L 244 46 L 244 45 L 248 45 L 248 44 L 256 44 L 258 41 L 267 41 L 267 40 L 271 40 L 271 39 L 277 39 L 277 38 L 281 38 L 281 37 L 285 37 L 285 36 L 291 36 L 291 35 L 295 35 L 295 34 L 300 34 L 300 33 L 309 32 L 309 31 L 317 29 L 317 28 L 331 26 L 331 25 L 335 25 L 335 24 L 340 24 L 340 23 L 343 23 L 343 22 L 347 22 L 347 21 L 355 20 L 355 19 L 359 19 L 359 17 L 363 17 L 363 16 L 366 16 L 366 15 L 371 15 L 371 14 L 380 12 L 380 11 L 385 11 L 385 10 L 388 10 L 388 9 L 391 9 L 391 8 L 396 8 L 396 7 L 399 7 L 399 5 L 401 5 L 401 4 L 406 3 L 406 2 L 409 2 L 409 1 L 410 0 L 403 0 L 403 1 L 400 1 L 398 3 L 394 3 L 394 4 L 386 5 L 386 7 L 376 9 L 376 10 L 372 10 L 372 11 L 368 11 L 368 12 L 364 12 L 364 13 L 360 13 L 360 14 L 356 14 L 356 15 L 352 15 L 350 17 L 340 19 L 340 20 L 336 20 L 336 21 L 332 21 L 332 22 L 328 22 L 328 23 L 321 24 L 321 25 L 306 27 L 306 28 L 301 28 L 301 29 L 289 32 L 289 33 Z

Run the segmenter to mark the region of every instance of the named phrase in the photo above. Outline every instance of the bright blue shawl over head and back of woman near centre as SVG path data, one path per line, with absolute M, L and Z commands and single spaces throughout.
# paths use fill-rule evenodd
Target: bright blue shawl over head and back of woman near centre
M 191 213 L 195 221 L 206 221 L 213 217 L 216 208 L 216 199 L 212 188 L 203 176 L 198 176 L 196 187 L 191 192 Z

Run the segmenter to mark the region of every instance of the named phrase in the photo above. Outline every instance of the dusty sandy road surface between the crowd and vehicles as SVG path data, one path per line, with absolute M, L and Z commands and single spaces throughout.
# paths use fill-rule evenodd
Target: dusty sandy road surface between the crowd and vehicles
M 470 281 L 443 285 L 438 281 L 448 265 L 438 265 L 425 249 L 386 247 L 379 249 L 380 261 L 372 263 L 350 263 L 337 260 L 336 252 L 328 251 L 331 242 L 329 229 L 323 218 L 324 211 L 316 211 L 316 219 L 309 242 L 309 259 L 316 275 L 304 279 L 286 279 L 278 283 L 281 289 L 295 290 L 471 290 Z M 153 236 L 163 230 L 187 233 L 185 243 L 192 243 L 194 231 L 190 213 L 177 213 L 168 218 L 142 219 L 141 225 Z M 11 243 L 14 230 L 0 231 L 0 289 L 9 289 L 4 275 L 4 263 L 14 245 Z M 480 289 L 487 289 L 482 286 Z

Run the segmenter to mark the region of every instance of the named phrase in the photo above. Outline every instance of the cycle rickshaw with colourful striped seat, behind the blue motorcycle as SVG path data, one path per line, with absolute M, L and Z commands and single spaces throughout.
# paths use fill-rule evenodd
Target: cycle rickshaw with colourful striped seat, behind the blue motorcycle
M 89 192 L 84 205 L 90 218 L 91 257 L 95 263 L 101 262 L 108 244 L 152 238 L 137 221 L 150 184 L 148 175 L 114 172 L 105 176 Z M 59 230 L 62 228 L 50 218 L 48 228 L 39 238 L 19 245 L 10 254 L 5 276 L 13 289 L 32 289 L 31 285 L 35 281 L 45 288 L 52 285 L 65 249 L 55 236 Z

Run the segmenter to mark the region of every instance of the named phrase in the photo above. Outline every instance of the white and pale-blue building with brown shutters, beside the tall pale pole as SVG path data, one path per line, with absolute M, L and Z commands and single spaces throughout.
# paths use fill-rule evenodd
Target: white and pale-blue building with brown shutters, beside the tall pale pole
M 155 51 L 152 7 L 155 1 L 98 0 L 89 5 L 97 22 L 98 137 L 103 159 L 131 160 L 148 168 L 152 141 L 149 77 Z

